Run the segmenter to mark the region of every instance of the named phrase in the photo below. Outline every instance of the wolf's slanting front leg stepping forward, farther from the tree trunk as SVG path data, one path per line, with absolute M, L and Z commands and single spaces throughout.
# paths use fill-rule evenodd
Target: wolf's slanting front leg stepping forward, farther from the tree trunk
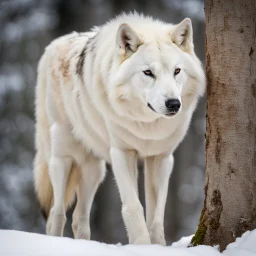
M 122 215 L 129 243 L 150 244 L 143 207 L 137 194 L 137 154 L 131 150 L 110 150 L 112 168 L 122 200 Z

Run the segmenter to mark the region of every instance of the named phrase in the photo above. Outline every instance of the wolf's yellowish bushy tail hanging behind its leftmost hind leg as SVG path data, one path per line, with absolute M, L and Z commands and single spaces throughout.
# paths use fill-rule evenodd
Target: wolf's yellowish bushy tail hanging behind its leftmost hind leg
M 53 206 L 53 188 L 49 176 L 48 165 L 42 159 L 40 159 L 39 153 L 37 152 L 35 163 L 34 163 L 34 180 L 37 197 L 41 207 L 42 214 L 45 219 L 49 217 L 50 210 Z M 66 192 L 65 192 L 65 209 L 73 203 L 75 198 L 75 191 L 79 181 L 79 171 L 73 164 L 69 174 Z

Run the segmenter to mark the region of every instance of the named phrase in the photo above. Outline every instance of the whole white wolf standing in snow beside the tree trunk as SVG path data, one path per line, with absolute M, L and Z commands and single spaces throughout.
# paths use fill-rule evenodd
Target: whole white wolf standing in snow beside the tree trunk
M 129 242 L 164 245 L 172 154 L 204 88 L 189 18 L 172 25 L 123 14 L 53 41 L 40 60 L 36 88 L 34 174 L 47 234 L 63 235 L 76 194 L 74 236 L 90 239 L 90 210 L 109 162 Z M 146 221 L 138 158 L 145 166 Z

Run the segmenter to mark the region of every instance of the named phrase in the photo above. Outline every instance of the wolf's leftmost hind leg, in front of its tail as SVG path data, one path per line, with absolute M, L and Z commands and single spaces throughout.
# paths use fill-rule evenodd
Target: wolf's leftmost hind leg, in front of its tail
M 66 223 L 65 193 L 71 173 L 74 139 L 70 127 L 63 123 L 54 123 L 50 128 L 51 156 L 49 160 L 49 176 L 53 187 L 53 206 L 47 221 L 46 233 L 63 236 Z

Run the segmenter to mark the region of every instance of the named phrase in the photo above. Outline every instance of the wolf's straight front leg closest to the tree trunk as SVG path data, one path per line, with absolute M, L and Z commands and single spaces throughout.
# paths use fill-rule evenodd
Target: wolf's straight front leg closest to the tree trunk
M 153 244 L 166 245 L 164 211 L 173 164 L 172 155 L 145 159 L 146 218 Z

